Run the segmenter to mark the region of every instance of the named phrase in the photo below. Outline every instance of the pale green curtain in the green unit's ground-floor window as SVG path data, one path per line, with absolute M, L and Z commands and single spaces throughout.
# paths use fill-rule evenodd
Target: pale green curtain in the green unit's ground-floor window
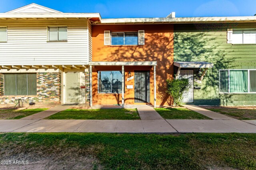
M 230 70 L 230 93 L 248 92 L 248 70 Z

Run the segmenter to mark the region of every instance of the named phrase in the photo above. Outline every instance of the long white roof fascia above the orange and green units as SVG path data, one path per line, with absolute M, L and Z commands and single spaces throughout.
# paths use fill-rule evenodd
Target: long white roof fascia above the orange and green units
M 245 17 L 194 17 L 194 18 L 116 18 L 102 19 L 102 24 L 123 23 L 205 23 L 205 22 L 246 22 L 256 21 L 256 16 Z M 100 23 L 99 23 L 100 24 Z

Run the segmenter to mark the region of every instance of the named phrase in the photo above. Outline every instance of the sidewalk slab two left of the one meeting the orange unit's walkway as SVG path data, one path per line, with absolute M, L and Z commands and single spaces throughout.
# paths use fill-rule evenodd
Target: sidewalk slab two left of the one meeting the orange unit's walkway
M 92 120 L 79 132 L 113 133 L 118 120 Z

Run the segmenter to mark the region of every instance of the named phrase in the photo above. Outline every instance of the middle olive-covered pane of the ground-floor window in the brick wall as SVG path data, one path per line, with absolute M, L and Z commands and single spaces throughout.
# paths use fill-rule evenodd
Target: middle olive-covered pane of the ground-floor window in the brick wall
M 16 74 L 17 95 L 27 95 L 27 74 Z

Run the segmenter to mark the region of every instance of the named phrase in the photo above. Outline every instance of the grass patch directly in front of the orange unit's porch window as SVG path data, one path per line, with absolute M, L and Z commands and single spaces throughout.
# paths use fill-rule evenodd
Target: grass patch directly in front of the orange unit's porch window
M 46 119 L 140 119 L 137 109 L 66 109 Z

